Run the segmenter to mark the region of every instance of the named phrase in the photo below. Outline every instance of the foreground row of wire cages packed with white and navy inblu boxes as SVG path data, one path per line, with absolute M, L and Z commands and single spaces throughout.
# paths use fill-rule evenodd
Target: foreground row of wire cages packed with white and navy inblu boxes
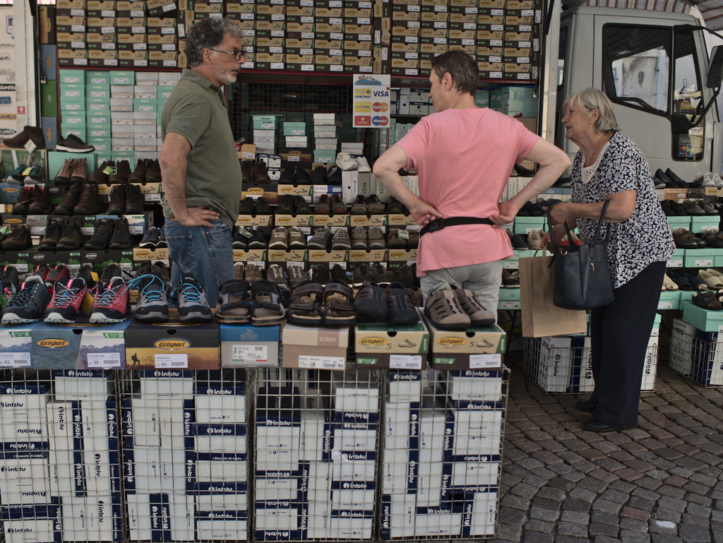
M 505 368 L 14 369 L 1 439 L 22 476 L 0 475 L 6 540 L 493 536 L 508 380 Z

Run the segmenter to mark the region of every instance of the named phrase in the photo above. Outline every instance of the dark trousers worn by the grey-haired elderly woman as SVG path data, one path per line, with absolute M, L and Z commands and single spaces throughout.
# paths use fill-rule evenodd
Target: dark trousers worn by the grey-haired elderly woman
M 594 419 L 636 426 L 645 354 L 660 299 L 666 262 L 653 262 L 615 288 L 615 300 L 590 312 Z

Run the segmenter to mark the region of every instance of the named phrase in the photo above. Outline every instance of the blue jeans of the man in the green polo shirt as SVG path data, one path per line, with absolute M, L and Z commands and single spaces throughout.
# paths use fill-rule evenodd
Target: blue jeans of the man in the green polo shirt
M 183 226 L 166 219 L 166 240 L 171 255 L 171 285 L 181 283 L 182 273 L 192 273 L 206 292 L 206 301 L 215 307 L 218 287 L 234 278 L 234 246 L 231 228 L 221 220 L 208 226 Z

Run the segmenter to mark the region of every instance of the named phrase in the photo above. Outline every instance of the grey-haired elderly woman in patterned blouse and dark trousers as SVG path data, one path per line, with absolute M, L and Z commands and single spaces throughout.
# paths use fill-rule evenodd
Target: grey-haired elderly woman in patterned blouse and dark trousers
M 596 89 L 581 90 L 568 96 L 562 113 L 565 137 L 580 150 L 572 166 L 572 200 L 552 208 L 555 239 L 565 234 L 567 222 L 578 227 L 583 243 L 594 241 L 603 202 L 609 200 L 604 221 L 611 225 L 607 258 L 615 299 L 591 311 L 595 390 L 577 407 L 592 413 L 585 429 L 611 432 L 638 424 L 646 349 L 675 244 L 648 162 L 618 132 L 609 98 Z

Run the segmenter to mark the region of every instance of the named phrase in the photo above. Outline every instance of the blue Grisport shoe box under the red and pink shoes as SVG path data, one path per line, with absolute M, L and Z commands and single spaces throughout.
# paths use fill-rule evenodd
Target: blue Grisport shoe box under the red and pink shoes
M 39 322 L 32 330 L 33 367 L 38 369 L 124 369 L 125 335 L 131 320 L 69 325 Z

